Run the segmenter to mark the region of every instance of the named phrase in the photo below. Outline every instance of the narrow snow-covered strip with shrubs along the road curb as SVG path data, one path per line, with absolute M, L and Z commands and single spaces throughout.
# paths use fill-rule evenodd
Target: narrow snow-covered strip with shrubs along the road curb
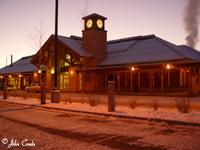
M 2 100 L 2 97 L 0 97 L 0 100 Z M 154 111 L 153 108 L 136 107 L 135 109 L 131 109 L 129 106 L 117 106 L 115 112 L 108 112 L 108 108 L 106 105 L 97 105 L 91 107 L 88 103 L 51 103 L 49 100 L 47 100 L 47 104 L 40 105 L 40 101 L 38 99 L 23 99 L 19 97 L 9 97 L 6 101 L 21 104 L 45 106 L 49 108 L 60 108 L 101 114 L 113 114 L 144 118 L 159 118 L 164 120 L 200 123 L 200 112 L 197 111 L 191 111 L 190 113 L 180 113 L 176 109 L 158 108 L 158 111 Z

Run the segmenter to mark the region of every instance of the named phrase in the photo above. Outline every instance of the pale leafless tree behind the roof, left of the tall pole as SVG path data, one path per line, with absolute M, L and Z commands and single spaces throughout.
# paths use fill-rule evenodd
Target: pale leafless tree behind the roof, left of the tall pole
M 33 50 L 39 50 L 46 39 L 45 27 L 40 21 L 39 27 L 33 27 L 33 31 L 27 32 L 26 41 Z

